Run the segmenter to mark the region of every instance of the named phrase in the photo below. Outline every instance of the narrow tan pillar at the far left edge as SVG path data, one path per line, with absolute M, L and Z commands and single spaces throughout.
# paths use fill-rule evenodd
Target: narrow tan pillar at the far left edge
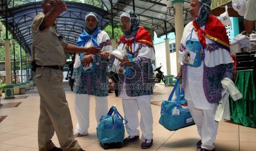
M 6 84 L 12 84 L 12 67 L 10 65 L 10 39 L 4 39 L 4 51 L 6 57 Z

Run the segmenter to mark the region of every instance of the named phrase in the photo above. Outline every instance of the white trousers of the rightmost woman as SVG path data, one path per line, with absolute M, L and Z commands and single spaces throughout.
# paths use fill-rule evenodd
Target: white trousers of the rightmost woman
M 212 110 L 194 108 L 192 101 L 188 101 L 189 111 L 192 114 L 195 125 L 197 125 L 198 133 L 201 137 L 201 148 L 213 150 L 215 148 L 214 141 L 217 136 L 219 123 L 215 121 L 215 113 L 217 104 Z

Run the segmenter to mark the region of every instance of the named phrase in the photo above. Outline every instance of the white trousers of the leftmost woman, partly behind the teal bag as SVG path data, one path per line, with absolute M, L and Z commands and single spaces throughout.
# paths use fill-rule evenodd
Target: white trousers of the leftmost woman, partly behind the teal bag
M 88 94 L 75 94 L 75 114 L 77 115 L 77 129 L 75 132 L 88 133 L 90 124 L 90 97 Z M 107 97 L 94 96 L 96 101 L 95 117 L 99 123 L 101 115 L 107 115 L 108 103 Z

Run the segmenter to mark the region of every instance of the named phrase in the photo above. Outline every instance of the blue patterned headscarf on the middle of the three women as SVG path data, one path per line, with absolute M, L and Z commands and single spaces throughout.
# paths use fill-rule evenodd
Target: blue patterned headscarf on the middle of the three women
M 120 18 L 122 17 L 127 17 L 130 19 L 130 31 L 127 32 L 123 30 L 125 36 L 129 36 L 130 34 L 132 34 L 132 32 L 138 31 L 139 20 L 136 18 L 137 15 L 133 10 L 124 11 L 124 13 L 120 15 Z

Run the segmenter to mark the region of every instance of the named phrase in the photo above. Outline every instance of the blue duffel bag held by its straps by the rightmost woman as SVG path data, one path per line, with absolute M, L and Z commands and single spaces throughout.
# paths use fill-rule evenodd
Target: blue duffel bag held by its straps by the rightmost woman
M 172 101 L 172 96 L 176 91 L 177 96 Z M 194 120 L 188 109 L 187 100 L 184 98 L 183 90 L 179 90 L 179 79 L 167 101 L 161 104 L 161 117 L 159 123 L 170 131 L 182 129 L 183 127 L 194 125 Z

